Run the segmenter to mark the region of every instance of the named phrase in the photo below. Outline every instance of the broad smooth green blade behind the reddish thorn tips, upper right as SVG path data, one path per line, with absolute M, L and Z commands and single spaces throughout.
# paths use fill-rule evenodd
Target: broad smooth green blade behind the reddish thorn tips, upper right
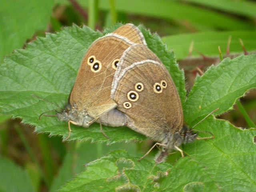
M 194 42 L 194 48 L 206 56 L 218 56 L 218 46 L 225 54 L 228 38 L 231 36 L 230 53 L 242 53 L 243 49 L 239 39 L 242 39 L 247 51 L 256 50 L 256 32 L 255 31 L 225 31 L 225 32 L 199 32 L 193 34 L 178 34 L 162 37 L 168 48 L 172 48 L 177 60 L 188 57 L 190 44 Z M 198 56 L 196 51 L 192 56 Z

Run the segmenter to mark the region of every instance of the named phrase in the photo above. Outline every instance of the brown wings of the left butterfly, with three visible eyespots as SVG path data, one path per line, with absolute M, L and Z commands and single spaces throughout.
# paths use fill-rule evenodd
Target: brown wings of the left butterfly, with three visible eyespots
M 79 111 L 86 110 L 91 117 L 98 118 L 103 112 L 116 107 L 116 103 L 110 98 L 116 63 L 133 44 L 132 36 L 136 42 L 143 43 L 138 29 L 129 33 L 128 37 L 121 36 L 124 35 L 122 31 L 130 28 L 130 24 L 121 26 L 113 33 L 99 38 L 88 48 L 70 94 L 70 104 Z

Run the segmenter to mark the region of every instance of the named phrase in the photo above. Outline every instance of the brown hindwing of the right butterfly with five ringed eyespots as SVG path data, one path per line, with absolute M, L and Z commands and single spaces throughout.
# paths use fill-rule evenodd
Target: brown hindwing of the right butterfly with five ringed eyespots
M 134 45 L 126 56 L 130 57 L 136 50 Z M 152 54 L 146 47 L 145 52 Z M 118 110 L 130 119 L 128 127 L 162 141 L 168 134 L 182 129 L 183 113 L 172 78 L 158 60 L 157 56 L 154 60 L 130 60 L 130 66 L 118 77 L 112 98 Z

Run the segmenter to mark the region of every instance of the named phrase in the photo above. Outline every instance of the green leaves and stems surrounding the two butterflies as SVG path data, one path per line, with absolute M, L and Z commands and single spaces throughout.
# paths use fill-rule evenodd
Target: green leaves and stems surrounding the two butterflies
M 239 38 L 247 52 L 255 52 L 256 3 L 245 0 L 79 0 L 77 3 L 85 17 L 74 1 L 0 0 L 0 191 L 254 190 L 256 102 L 255 94 L 251 93 L 256 87 L 256 55 L 226 58 L 211 66 L 203 76 L 197 76 L 187 97 L 184 72 L 175 59 L 202 59 L 195 50 L 206 58 L 218 58 L 218 46 L 224 55 L 230 36 L 230 55 L 243 53 Z M 55 106 L 31 95 L 63 107 L 86 49 L 96 38 L 120 26 L 116 22 L 143 24 L 139 28 L 149 48 L 162 60 L 176 84 L 186 124 L 193 126 L 216 108 L 219 110 L 215 115 L 226 113 L 237 102 L 240 110 L 234 110 L 233 116 L 245 118 L 247 124 L 242 127 L 246 129 L 210 116 L 196 129 L 212 132 L 214 139 L 183 146 L 185 158 L 172 154 L 158 165 L 153 161 L 157 149 L 137 162 L 152 142 L 128 128 L 104 127 L 112 139 L 109 141 L 102 136 L 98 124 L 88 129 L 72 126 L 71 141 L 62 143 L 62 138 L 54 135 L 65 138 L 66 123 L 54 117 L 39 121 L 42 112 Z M 188 57 L 192 43 L 195 49 Z M 243 99 L 241 105 L 237 99 L 248 90 L 252 96 Z

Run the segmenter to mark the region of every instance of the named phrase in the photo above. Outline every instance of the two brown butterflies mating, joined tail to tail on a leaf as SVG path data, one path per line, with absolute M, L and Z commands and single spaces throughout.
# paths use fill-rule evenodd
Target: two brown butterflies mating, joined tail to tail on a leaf
M 88 48 L 68 107 L 58 117 L 68 121 L 69 129 L 70 123 L 88 127 L 94 121 L 128 126 L 164 146 L 157 162 L 168 150 L 180 150 L 182 142 L 197 136 L 184 129 L 170 74 L 132 24 L 98 38 Z

